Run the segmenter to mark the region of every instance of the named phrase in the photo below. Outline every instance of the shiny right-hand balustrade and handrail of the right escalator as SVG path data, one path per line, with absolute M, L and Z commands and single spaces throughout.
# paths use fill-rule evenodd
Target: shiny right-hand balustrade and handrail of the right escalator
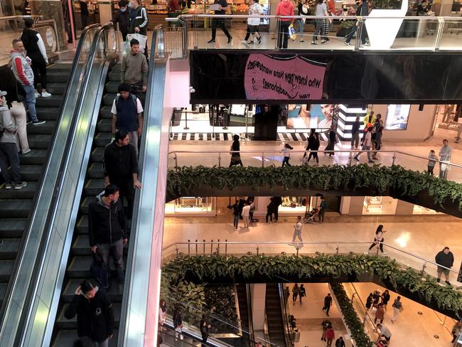
M 158 39 L 159 39 L 159 47 L 158 47 Z M 145 164 L 145 158 L 146 158 L 146 147 L 147 147 L 147 139 L 148 139 L 148 132 L 149 132 L 149 127 L 155 127 L 156 124 L 154 122 L 151 122 L 151 117 L 153 117 L 154 112 L 154 107 L 156 102 L 161 103 L 163 100 L 154 100 L 154 93 L 156 90 L 154 90 L 154 74 L 155 74 L 155 58 L 156 56 L 159 58 L 163 58 L 163 28 L 161 25 L 157 25 L 154 28 L 154 31 L 152 33 L 152 41 L 151 41 L 151 52 L 150 52 L 150 59 L 149 59 L 149 70 L 148 70 L 148 82 L 146 86 L 146 100 L 144 103 L 144 119 L 143 119 L 143 129 L 144 132 L 141 137 L 141 146 L 139 149 L 139 181 L 143 181 L 144 177 L 149 177 L 151 178 L 152 181 L 157 181 L 157 176 L 156 175 L 151 175 L 150 171 L 148 170 L 153 170 L 156 168 L 148 168 L 146 167 Z M 151 124 L 152 123 L 152 124 Z M 160 132 L 160 129 L 159 129 Z M 160 134 L 159 134 L 160 137 Z M 136 190 L 135 193 L 135 199 L 134 199 L 134 210 L 133 210 L 133 215 L 131 218 L 131 229 L 130 229 L 130 240 L 129 240 L 129 252 L 127 256 L 127 267 L 125 271 L 125 285 L 124 285 L 124 295 L 122 297 L 122 308 L 120 312 L 120 324 L 119 324 L 119 338 L 117 340 L 117 346 L 125 346 L 125 341 L 131 341 L 133 343 L 133 336 L 130 336 L 131 331 L 130 331 L 130 326 L 129 326 L 129 310 L 131 308 L 131 292 L 133 291 L 134 284 L 133 284 L 133 275 L 135 272 L 134 269 L 134 257 L 136 255 L 136 237 L 138 236 L 138 230 L 139 230 L 139 223 L 140 223 L 140 206 L 141 206 L 141 201 L 142 201 L 142 196 L 146 196 L 146 191 L 147 191 L 147 181 L 144 182 L 144 187 L 142 191 L 140 192 L 138 189 Z M 155 199 L 155 194 L 150 197 L 151 200 Z M 155 201 L 153 203 L 155 205 Z M 154 220 L 154 216 L 151 216 Z M 154 232 L 151 230 L 151 232 Z M 151 245 L 149 245 L 151 247 Z M 139 252 L 139 251 L 138 251 Z M 151 255 L 151 253 L 149 253 Z M 147 257 L 148 255 L 144 255 L 144 257 Z M 151 257 L 149 256 L 149 259 Z M 140 269 L 138 269 L 140 270 Z M 148 269 L 148 274 L 149 274 L 149 269 Z M 148 276 L 149 277 L 149 276 Z M 148 285 L 146 285 L 146 282 Z M 136 285 L 139 285 L 141 283 L 137 283 Z M 149 288 L 149 278 L 145 279 L 145 282 L 143 283 L 145 285 L 145 290 L 147 291 Z M 147 294 L 146 294 L 147 297 Z M 144 298 L 143 298 L 144 299 Z M 135 300 L 133 298 L 133 300 Z M 141 300 L 141 298 L 139 298 Z M 147 300 L 146 301 L 146 306 L 148 304 Z M 140 312 L 139 313 L 142 316 L 137 317 L 139 319 L 139 324 L 146 324 L 146 316 L 147 312 Z M 139 330 L 142 330 L 144 332 L 145 327 L 138 327 Z M 137 337 L 141 339 L 139 334 Z M 144 341 L 138 341 L 139 346 L 141 344 L 144 344 Z

